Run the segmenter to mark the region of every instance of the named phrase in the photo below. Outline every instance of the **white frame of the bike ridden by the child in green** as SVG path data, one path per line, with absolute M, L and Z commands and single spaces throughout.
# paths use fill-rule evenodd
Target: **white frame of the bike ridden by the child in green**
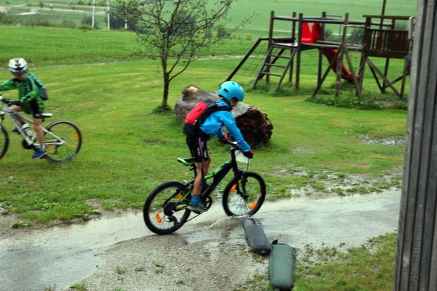
M 3 97 L 0 97 L 0 100 L 3 100 Z M 29 146 L 35 146 L 38 147 L 39 146 L 39 142 L 35 142 L 37 140 L 37 132 L 33 132 L 33 135 L 31 137 L 28 137 L 25 132 L 23 132 L 23 130 L 21 129 L 21 123 L 20 121 L 18 121 L 18 119 L 16 118 L 16 116 L 20 116 L 20 118 L 23 118 L 23 120 L 25 120 L 27 123 L 33 125 L 33 120 L 28 118 L 27 116 L 24 116 L 23 114 L 18 113 L 17 111 L 13 110 L 11 107 L 8 106 L 8 104 L 4 104 L 3 108 L 0 111 L 0 126 L 3 123 L 4 120 L 4 116 L 8 116 L 9 119 L 11 119 L 12 123 L 16 126 L 16 128 L 18 129 L 18 132 L 20 132 L 21 137 L 23 137 L 23 140 L 25 140 L 25 142 L 29 145 Z M 43 118 L 49 118 L 51 116 L 53 116 L 53 114 L 51 113 L 43 113 Z M 65 144 L 66 142 L 61 138 L 58 137 L 57 135 L 54 135 L 53 132 L 47 130 L 44 126 L 41 126 L 42 131 L 48 135 L 51 135 L 52 137 L 54 137 L 56 139 L 56 142 L 50 142 L 47 145 L 54 145 L 54 146 L 61 146 L 63 144 Z

